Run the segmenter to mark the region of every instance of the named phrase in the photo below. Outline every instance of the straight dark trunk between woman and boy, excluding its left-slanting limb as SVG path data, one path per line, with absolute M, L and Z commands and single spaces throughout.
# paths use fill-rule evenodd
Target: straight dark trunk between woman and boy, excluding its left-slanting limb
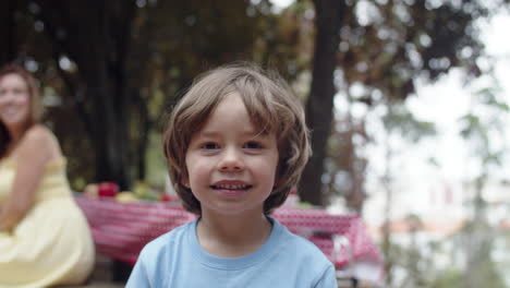
M 93 142 L 96 147 L 96 179 L 114 181 L 121 189 L 131 185 L 129 173 L 129 97 L 125 91 L 125 61 L 131 21 L 135 7 L 130 3 L 102 2 L 98 19 L 97 62 L 88 62 L 88 97 L 94 99 Z M 87 61 L 87 60 L 85 60 Z M 82 65 L 87 63 L 83 62 Z

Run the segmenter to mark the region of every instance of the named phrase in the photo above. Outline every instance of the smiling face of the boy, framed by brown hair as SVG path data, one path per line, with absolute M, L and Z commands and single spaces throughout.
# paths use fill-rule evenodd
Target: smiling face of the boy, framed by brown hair
M 191 188 L 202 214 L 262 213 L 275 185 L 275 133 L 259 134 L 243 100 L 231 93 L 193 134 L 185 155 Z

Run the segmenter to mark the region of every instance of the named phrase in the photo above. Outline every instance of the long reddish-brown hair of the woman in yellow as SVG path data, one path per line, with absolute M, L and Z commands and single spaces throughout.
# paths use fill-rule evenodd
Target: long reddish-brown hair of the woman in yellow
M 0 69 L 0 80 L 4 76 L 10 74 L 16 74 L 21 76 L 28 89 L 28 96 L 31 101 L 31 110 L 28 113 L 28 118 L 25 122 L 25 131 L 26 132 L 32 125 L 36 124 L 40 120 L 40 101 L 39 101 L 39 87 L 37 86 L 36 80 L 32 75 L 31 72 L 26 71 L 24 68 L 17 64 L 7 64 Z M 9 130 L 7 129 L 5 124 L 0 121 L 0 158 L 5 156 L 7 148 L 9 143 L 11 142 L 11 135 L 9 134 Z

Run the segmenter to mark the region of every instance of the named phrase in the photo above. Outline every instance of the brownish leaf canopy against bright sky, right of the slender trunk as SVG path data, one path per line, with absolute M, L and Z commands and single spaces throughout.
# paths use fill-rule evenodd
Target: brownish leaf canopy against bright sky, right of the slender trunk
M 339 57 L 348 85 L 363 83 L 398 100 L 414 93 L 417 76 L 435 81 L 453 67 L 479 75 L 483 45 L 473 23 L 488 14 L 482 1 L 353 1 L 350 9 Z

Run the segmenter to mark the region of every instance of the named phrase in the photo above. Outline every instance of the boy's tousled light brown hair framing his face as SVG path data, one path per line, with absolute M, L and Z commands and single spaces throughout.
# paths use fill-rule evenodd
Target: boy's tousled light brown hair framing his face
M 234 63 L 203 73 L 173 108 L 163 132 L 165 156 L 175 191 L 184 207 L 198 215 L 201 203 L 182 184 L 189 177 L 186 149 L 193 134 L 216 106 L 233 92 L 241 96 L 255 128 L 277 136 L 276 187 L 264 203 L 266 214 L 283 204 L 311 155 L 302 105 L 276 72 L 266 72 L 250 63 Z

